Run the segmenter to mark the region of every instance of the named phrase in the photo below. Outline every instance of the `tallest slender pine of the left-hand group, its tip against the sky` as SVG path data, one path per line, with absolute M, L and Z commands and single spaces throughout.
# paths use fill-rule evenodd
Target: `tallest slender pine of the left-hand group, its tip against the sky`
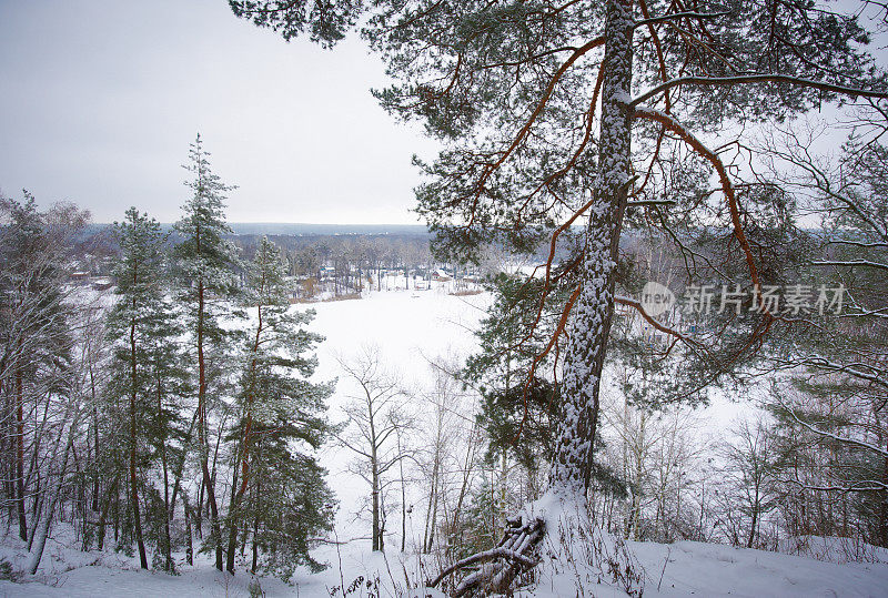
M 184 168 L 192 179 L 185 185 L 192 191 L 192 196 L 182 206 L 182 219 L 175 225 L 182 241 L 175 246 L 173 257 L 183 323 L 194 351 L 192 372 L 196 377 L 199 460 L 210 506 L 215 566 L 221 571 L 222 528 L 210 473 L 209 413 L 214 397 L 208 374 L 209 352 L 221 348 L 229 336 L 221 321 L 231 315 L 231 300 L 238 288 L 236 268 L 240 267 L 240 260 L 236 249 L 224 237 L 231 229 L 225 223 L 223 212 L 225 194 L 234 187 L 224 184 L 212 172 L 209 153 L 203 150 L 200 135 L 190 146 L 189 159 L 190 163 Z

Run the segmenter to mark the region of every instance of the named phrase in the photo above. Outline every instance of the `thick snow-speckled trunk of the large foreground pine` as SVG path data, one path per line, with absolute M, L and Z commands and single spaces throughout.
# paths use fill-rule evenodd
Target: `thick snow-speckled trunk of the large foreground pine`
M 581 292 L 574 305 L 565 354 L 562 414 L 549 485 L 553 491 L 585 496 L 598 424 L 598 389 L 614 315 L 614 273 L 629 186 L 633 0 L 612 0 L 605 24 L 599 171 L 589 210 Z

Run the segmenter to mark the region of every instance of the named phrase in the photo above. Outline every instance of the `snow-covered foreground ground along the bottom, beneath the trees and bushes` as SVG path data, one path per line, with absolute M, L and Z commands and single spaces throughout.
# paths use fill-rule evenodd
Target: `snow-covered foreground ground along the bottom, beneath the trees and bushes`
M 644 569 L 644 596 L 704 597 L 882 597 L 888 596 L 888 554 L 881 550 L 882 562 L 835 564 L 806 557 L 731 548 L 729 546 L 678 541 L 672 545 L 628 543 L 638 565 Z M 4 547 L 3 558 L 18 561 L 23 548 Z M 180 555 L 181 556 L 181 555 Z M 415 557 L 372 554 L 369 543 L 349 543 L 340 547 L 320 548 L 315 556 L 331 567 L 320 574 L 300 572 L 287 586 L 274 578 L 261 578 L 265 596 L 331 596 L 343 584 L 355 584 L 355 597 L 401 596 L 394 584 L 404 585 L 405 571 L 412 579 L 423 577 Z M 178 596 L 248 596 L 251 577 L 220 574 L 206 557 L 195 567 L 184 567 L 182 575 L 142 571 L 138 562 L 115 554 L 79 553 L 50 543 L 41 572 L 29 582 L 0 581 L 2 596 L 79 597 L 163 597 Z M 393 584 L 394 581 L 394 584 Z M 576 591 L 573 576 L 562 577 L 556 585 L 542 579 L 536 596 L 619 596 L 608 588 L 586 585 Z M 367 587 L 370 582 L 370 587 Z M 569 590 L 569 591 L 568 591 Z M 565 594 L 568 591 L 568 594 Z M 335 594 L 342 596 L 342 592 Z M 441 596 L 434 591 L 407 596 Z

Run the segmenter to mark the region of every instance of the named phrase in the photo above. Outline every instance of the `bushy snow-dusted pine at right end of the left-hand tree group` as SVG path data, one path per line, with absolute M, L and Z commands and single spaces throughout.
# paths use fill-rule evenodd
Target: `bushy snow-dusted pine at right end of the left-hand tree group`
M 330 432 L 324 401 L 332 386 L 309 382 L 316 359 L 306 355 L 322 337 L 305 325 L 314 313 L 290 310 L 293 287 L 280 250 L 263 237 L 248 271 L 243 304 L 250 310 L 238 408 L 228 564 L 234 572 L 238 535 L 253 526 L 253 565 L 289 578 L 309 556 L 311 537 L 331 529 L 333 495 L 311 452 Z M 245 501 L 249 490 L 252 497 Z

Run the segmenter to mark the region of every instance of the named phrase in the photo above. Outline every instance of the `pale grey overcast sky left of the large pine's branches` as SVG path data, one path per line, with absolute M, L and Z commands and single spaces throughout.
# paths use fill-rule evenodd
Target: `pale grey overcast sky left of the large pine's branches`
M 200 131 L 232 222 L 415 223 L 410 159 L 435 146 L 385 81 L 359 39 L 286 43 L 225 0 L 0 0 L 0 191 L 173 222 Z

